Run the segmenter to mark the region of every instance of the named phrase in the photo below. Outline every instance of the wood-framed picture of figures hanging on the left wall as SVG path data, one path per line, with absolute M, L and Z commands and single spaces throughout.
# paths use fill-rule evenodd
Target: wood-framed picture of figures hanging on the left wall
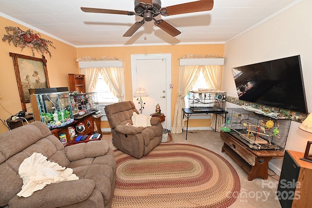
M 26 103 L 30 103 L 29 89 L 50 87 L 47 71 L 47 61 L 42 59 L 10 53 L 13 58 L 16 80 L 20 93 L 20 103 L 26 111 Z

